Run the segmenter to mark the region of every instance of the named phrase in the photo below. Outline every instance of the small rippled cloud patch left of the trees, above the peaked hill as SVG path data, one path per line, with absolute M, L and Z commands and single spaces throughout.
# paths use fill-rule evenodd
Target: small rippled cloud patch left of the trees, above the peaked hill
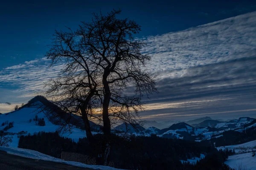
M 15 92 L 29 94 L 41 93 L 44 82 L 58 76 L 61 64 L 49 67 L 50 60 L 44 58 L 26 61 L 23 64 L 7 67 L 0 71 L 0 83 L 4 87 L 15 88 Z

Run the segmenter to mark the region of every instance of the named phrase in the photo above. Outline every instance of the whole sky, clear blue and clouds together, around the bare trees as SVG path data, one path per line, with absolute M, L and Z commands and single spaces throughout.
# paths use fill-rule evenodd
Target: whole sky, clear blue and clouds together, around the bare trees
M 142 26 L 159 94 L 142 119 L 256 118 L 256 2 L 6 1 L 0 6 L 0 112 L 44 92 L 57 77 L 44 57 L 56 30 L 76 29 L 93 12 L 120 8 Z M 7 105 L 10 102 L 12 105 Z

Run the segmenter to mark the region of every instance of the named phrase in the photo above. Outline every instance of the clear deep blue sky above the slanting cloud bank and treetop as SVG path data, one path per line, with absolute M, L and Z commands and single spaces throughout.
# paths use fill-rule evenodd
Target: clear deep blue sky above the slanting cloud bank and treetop
M 4 1 L 0 6 L 0 69 L 43 57 L 54 30 L 76 28 L 92 12 L 121 8 L 142 26 L 139 37 L 165 34 L 256 10 L 252 1 Z

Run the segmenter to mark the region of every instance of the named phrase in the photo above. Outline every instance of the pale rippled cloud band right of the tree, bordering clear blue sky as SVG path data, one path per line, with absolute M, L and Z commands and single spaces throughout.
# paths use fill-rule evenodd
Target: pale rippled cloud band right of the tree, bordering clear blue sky
M 150 70 L 197 67 L 256 54 L 256 12 L 145 38 Z

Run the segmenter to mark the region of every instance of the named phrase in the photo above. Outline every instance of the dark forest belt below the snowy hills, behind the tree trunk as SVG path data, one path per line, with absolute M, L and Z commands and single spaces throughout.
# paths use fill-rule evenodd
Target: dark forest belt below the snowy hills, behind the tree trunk
M 96 158 L 97 164 L 102 164 L 99 154 L 105 150 L 102 148 L 103 135 L 97 134 L 93 142 L 87 138 L 74 142 L 72 139 L 59 136 L 58 132 L 40 132 L 34 135 L 20 136 L 18 147 L 37 150 L 50 156 L 59 157 L 62 151 L 82 153 Z M 114 167 L 122 169 L 155 170 L 155 169 L 201 169 L 203 167 L 224 166 L 227 156 L 232 151 L 218 151 L 208 144 L 198 144 L 198 142 L 181 139 L 165 139 L 155 135 L 130 136 L 122 138 L 113 135 L 113 146 L 109 155 L 109 161 Z M 196 165 L 182 164 L 180 160 L 200 157 L 206 155 L 205 159 Z

